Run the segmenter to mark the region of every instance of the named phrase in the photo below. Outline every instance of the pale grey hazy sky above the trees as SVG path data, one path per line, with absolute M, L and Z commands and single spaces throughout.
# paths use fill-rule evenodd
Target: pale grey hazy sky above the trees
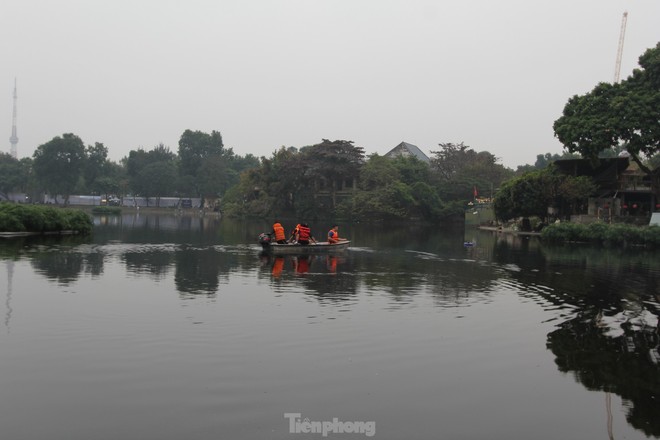
M 112 160 L 186 129 L 237 154 L 343 139 L 560 153 L 569 97 L 660 41 L 660 0 L 2 0 L 0 150 L 74 133 Z M 4 133 L 4 134 L 3 134 Z

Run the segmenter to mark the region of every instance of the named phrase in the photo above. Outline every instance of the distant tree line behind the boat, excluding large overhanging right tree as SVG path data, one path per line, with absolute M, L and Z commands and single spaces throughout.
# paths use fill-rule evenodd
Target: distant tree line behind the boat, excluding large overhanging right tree
M 504 195 L 534 199 L 533 205 L 524 202 L 525 212 L 540 212 L 548 194 L 561 195 L 573 209 L 591 188 L 587 183 L 578 185 L 583 192 L 567 191 L 569 184 L 562 187 L 556 180 L 571 178 L 555 176 L 553 191 L 539 188 L 524 197 L 514 191 L 513 182 L 521 182 L 516 176 L 530 182 L 531 176 L 548 173 L 548 165 L 560 157 L 538 155 L 534 165 L 514 171 L 488 151 L 464 143 L 441 143 L 425 162 L 413 156 L 366 156 L 352 141 L 323 139 L 257 158 L 226 148 L 218 131 L 186 130 L 177 152 L 160 144 L 131 150 L 116 163 L 103 144 L 85 146 L 67 133 L 40 145 L 31 158 L 0 155 L 0 196 L 20 191 L 36 201 L 39 194 L 49 194 L 64 205 L 72 194 L 199 197 L 220 200 L 231 216 L 437 222 L 462 218 L 468 202 L 477 196 L 490 199 L 496 192 L 501 201 Z M 517 205 L 510 205 L 508 212 L 517 215 Z

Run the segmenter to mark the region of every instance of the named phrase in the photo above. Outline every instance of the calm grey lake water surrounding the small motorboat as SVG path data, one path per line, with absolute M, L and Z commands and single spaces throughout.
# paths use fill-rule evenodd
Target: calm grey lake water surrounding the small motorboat
M 265 223 L 95 224 L 0 241 L 3 439 L 660 437 L 657 251 L 342 225 L 344 255 L 273 258 Z

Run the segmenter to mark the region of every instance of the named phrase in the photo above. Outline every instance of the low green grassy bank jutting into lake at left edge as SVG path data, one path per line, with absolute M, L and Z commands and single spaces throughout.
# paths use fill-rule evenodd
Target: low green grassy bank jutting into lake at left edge
M 77 209 L 0 203 L 0 232 L 89 234 L 93 226 L 89 215 Z

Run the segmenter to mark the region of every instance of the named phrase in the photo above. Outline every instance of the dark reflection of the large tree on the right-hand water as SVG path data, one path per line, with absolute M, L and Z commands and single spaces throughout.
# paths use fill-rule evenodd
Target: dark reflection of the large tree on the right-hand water
M 510 276 L 521 286 L 547 286 L 534 295 L 572 311 L 548 334 L 559 370 L 621 396 L 628 422 L 660 436 L 660 255 L 509 236 L 496 240 L 494 259 L 517 265 Z

